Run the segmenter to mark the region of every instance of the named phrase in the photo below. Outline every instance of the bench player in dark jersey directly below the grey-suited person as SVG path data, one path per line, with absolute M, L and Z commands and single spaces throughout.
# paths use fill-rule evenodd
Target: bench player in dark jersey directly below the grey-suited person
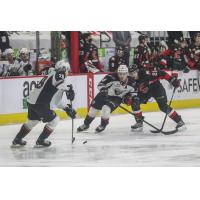
M 116 48 L 116 54 L 109 59 L 109 72 L 117 72 L 117 68 L 124 64 L 124 50 L 118 46 Z

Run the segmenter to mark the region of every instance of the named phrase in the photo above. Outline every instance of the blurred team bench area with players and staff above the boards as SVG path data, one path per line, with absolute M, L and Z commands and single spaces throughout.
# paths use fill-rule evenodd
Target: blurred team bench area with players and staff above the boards
M 90 31 L 77 37 L 75 48 L 69 31 L 1 31 L 0 77 L 46 75 L 59 60 L 73 73 L 115 72 L 121 64 L 200 71 L 200 31 Z

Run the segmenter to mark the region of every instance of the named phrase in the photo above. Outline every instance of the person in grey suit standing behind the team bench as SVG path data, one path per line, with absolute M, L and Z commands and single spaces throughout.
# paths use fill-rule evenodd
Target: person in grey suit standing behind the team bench
M 113 35 L 113 41 L 115 42 L 116 49 L 119 46 L 124 49 L 125 64 L 129 66 L 130 43 L 131 43 L 130 31 L 113 31 L 112 35 Z

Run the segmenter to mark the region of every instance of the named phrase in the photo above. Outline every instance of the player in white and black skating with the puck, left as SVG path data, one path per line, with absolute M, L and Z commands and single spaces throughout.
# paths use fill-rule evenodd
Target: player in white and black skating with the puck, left
M 64 93 L 67 99 L 74 100 L 74 90 L 66 84 L 65 77 L 69 69 L 65 61 L 58 61 L 55 72 L 44 77 L 33 89 L 28 98 L 28 122 L 22 125 L 20 131 L 13 140 L 14 146 L 24 146 L 26 141 L 23 138 L 40 121 L 46 123 L 42 133 L 36 141 L 37 146 L 48 147 L 51 142 L 46 140 L 56 128 L 59 118 L 51 109 L 52 106 L 63 109 L 71 118 L 76 117 L 76 111 L 69 105 L 62 102 Z

